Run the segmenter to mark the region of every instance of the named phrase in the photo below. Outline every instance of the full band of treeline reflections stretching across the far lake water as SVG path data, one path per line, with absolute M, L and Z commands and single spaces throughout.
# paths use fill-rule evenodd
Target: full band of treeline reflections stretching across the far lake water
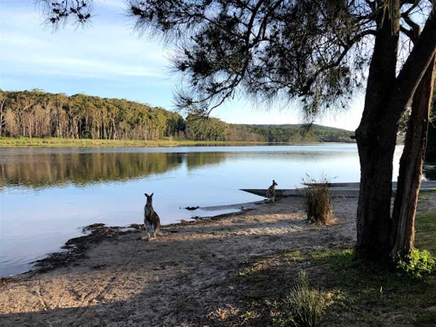
M 59 150 L 59 149 L 56 149 Z M 69 183 L 86 186 L 100 182 L 122 182 L 164 174 L 186 162 L 189 170 L 219 165 L 228 159 L 244 160 L 253 165 L 256 160 L 290 160 L 299 165 L 313 162 L 352 159 L 354 151 L 229 151 L 229 152 L 72 152 L 45 150 L 22 153 L 14 149 L 0 153 L 0 187 L 63 186 Z M 249 162 L 252 161 L 252 162 Z M 292 165 L 292 163 L 291 163 Z M 319 176 L 316 176 L 319 177 Z

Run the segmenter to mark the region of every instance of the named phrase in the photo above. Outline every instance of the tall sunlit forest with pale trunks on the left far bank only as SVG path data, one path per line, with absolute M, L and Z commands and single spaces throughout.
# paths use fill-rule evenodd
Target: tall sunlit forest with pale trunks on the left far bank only
M 184 129 L 179 114 L 125 99 L 0 90 L 0 136 L 156 140 Z

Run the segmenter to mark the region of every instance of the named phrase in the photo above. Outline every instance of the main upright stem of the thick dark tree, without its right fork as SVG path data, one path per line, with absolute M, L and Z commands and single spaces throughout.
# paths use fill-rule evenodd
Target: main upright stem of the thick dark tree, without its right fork
M 360 159 L 356 257 L 369 261 L 389 258 L 393 158 L 400 117 L 396 119 L 388 110 L 396 79 L 399 37 L 393 28 L 398 21 L 393 24 L 381 13 L 377 21 L 365 106 L 356 130 Z

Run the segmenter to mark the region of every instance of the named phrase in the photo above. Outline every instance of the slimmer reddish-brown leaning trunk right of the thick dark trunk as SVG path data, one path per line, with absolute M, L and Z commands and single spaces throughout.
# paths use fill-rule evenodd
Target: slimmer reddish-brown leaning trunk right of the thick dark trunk
M 413 250 L 416 205 L 421 186 L 422 163 L 427 143 L 428 118 L 433 95 L 434 62 L 435 57 L 433 57 L 413 96 L 412 113 L 400 160 L 397 194 L 392 214 L 392 258 L 395 258 L 399 251 L 407 253 Z

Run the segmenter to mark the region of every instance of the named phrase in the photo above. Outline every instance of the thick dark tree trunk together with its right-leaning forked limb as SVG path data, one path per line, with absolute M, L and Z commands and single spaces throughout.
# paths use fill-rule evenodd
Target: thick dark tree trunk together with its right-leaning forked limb
M 390 205 L 397 122 L 436 52 L 436 14 L 432 12 L 395 77 L 398 23 L 385 19 L 377 30 L 364 111 L 356 130 L 361 165 L 356 257 L 370 261 L 387 261 L 392 253 Z

